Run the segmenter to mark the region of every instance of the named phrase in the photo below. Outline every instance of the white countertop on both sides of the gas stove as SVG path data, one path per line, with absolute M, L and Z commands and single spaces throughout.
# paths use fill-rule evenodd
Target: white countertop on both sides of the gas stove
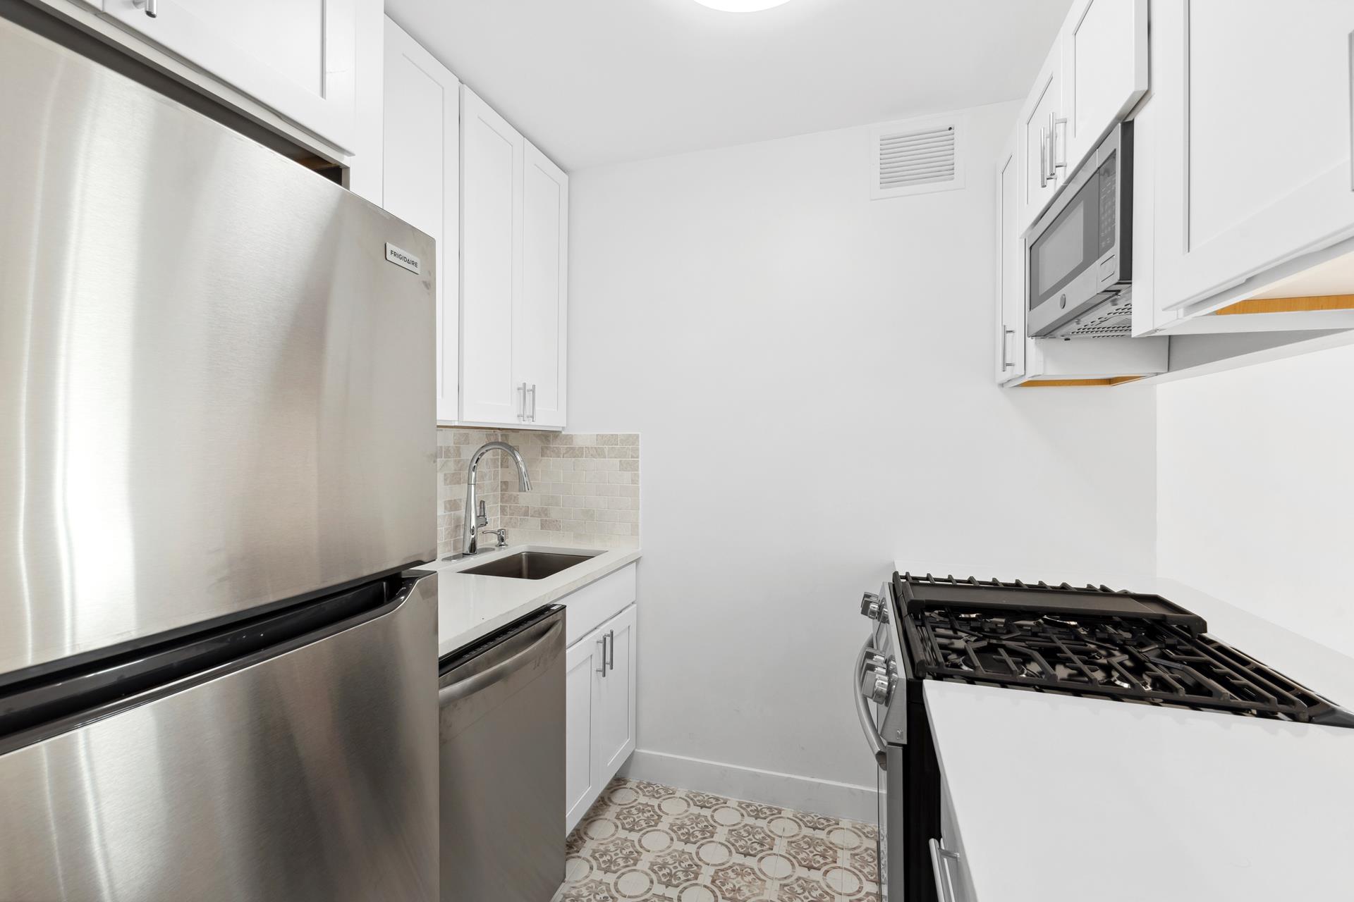
M 1354 709 L 1354 660 L 1170 579 L 898 561 L 1158 592 Z M 978 902 L 1354 898 L 1354 729 L 930 680 Z

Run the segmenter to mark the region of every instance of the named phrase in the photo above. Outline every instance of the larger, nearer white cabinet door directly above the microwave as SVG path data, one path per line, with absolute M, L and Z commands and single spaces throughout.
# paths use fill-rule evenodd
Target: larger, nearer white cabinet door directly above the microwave
M 1063 27 L 1067 172 L 1147 92 L 1147 0 L 1076 0 Z

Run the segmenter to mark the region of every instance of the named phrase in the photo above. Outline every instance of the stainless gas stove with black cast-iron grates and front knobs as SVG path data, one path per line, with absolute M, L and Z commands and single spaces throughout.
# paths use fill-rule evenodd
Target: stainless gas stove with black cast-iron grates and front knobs
M 879 764 L 886 902 L 934 902 L 951 879 L 926 680 L 1354 728 L 1354 714 L 1160 595 L 894 573 L 861 613 L 872 625 L 856 660 L 856 713 Z

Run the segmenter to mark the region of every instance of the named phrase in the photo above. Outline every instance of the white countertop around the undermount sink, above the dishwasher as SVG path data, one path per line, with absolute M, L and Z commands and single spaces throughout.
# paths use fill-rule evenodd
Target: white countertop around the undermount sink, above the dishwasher
M 596 557 L 546 579 L 512 579 L 460 572 L 527 550 L 596 554 Z M 639 560 L 639 548 L 604 550 L 566 545 L 510 545 L 470 559 L 425 564 L 417 569 L 437 572 L 437 656 L 450 655 L 635 560 Z

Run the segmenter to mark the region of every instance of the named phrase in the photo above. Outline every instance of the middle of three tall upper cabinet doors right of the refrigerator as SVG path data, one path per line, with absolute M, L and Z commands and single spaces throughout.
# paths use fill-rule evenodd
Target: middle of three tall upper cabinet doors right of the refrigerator
M 523 422 L 513 383 L 513 304 L 521 291 L 525 141 L 460 88 L 460 419 Z

